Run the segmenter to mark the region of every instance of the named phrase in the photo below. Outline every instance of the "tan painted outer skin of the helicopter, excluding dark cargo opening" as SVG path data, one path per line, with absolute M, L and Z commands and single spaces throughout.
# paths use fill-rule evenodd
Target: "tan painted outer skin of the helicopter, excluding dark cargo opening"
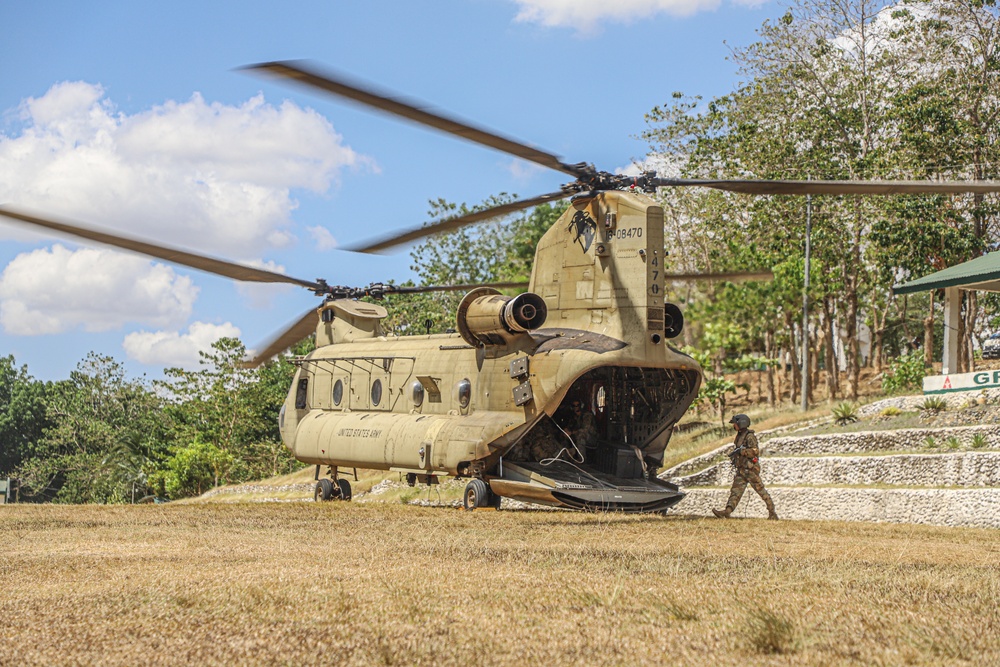
M 385 336 L 380 306 L 328 302 L 317 328 L 325 344 L 300 362 L 282 437 L 307 463 L 469 474 L 472 462 L 495 461 L 539 417 L 553 415 L 573 382 L 601 366 L 691 372 L 690 395 L 679 396 L 670 414 L 676 421 L 697 391 L 699 369 L 663 340 L 663 260 L 662 209 L 644 195 L 604 192 L 574 201 L 539 242 L 530 290 L 548 316 L 534 338 L 511 335 L 505 345 L 477 349 L 458 334 Z M 533 400 L 518 406 L 513 390 L 525 378 L 511 377 L 510 362 L 523 357 Z M 463 380 L 471 384 L 466 406 Z M 306 405 L 296 409 L 302 381 Z M 668 437 L 664 428 L 642 446 L 662 454 Z

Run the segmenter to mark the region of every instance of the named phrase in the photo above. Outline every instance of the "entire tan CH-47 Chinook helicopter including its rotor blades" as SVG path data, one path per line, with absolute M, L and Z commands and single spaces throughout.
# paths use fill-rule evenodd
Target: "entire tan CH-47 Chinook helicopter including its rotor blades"
M 0 206 L 0 214 L 236 280 L 290 283 L 323 298 L 278 335 L 251 365 L 314 333 L 316 349 L 298 369 L 281 408 L 285 445 L 316 465 L 316 498 L 351 498 L 341 471 L 398 471 L 434 483 L 470 481 L 467 509 L 499 507 L 501 497 L 577 509 L 662 512 L 678 488 L 656 477 L 674 424 L 695 398 L 701 369 L 667 344 L 683 327 L 665 303 L 664 282 L 768 279 L 769 272 L 678 275 L 664 272 L 659 187 L 709 187 L 749 194 L 998 192 L 1000 183 L 930 181 L 757 181 L 638 177 L 597 171 L 390 97 L 301 62 L 247 68 L 304 84 L 564 172 L 559 192 L 441 220 L 348 248 L 383 251 L 425 236 L 569 198 L 541 238 L 528 291 L 454 285 L 365 288 L 328 285 L 233 264 Z M 468 290 L 458 333 L 388 335 L 378 304 L 393 293 Z M 587 432 L 566 423 L 566 407 L 590 412 Z M 576 418 L 580 423 L 579 417 Z M 326 466 L 328 476 L 319 479 Z

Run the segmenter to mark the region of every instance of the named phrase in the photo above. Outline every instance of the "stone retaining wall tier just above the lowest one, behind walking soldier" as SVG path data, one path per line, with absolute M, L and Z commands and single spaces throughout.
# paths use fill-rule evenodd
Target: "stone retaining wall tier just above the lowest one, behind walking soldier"
M 684 488 L 728 488 L 733 483 L 733 474 L 733 467 L 727 461 L 670 481 Z M 1000 452 L 772 458 L 762 462 L 761 479 L 765 485 L 784 486 L 1000 486 Z

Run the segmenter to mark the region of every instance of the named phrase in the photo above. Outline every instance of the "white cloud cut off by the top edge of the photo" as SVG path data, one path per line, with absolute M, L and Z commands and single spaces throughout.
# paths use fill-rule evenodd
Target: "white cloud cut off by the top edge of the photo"
M 720 0 L 514 0 L 520 7 L 516 21 L 549 27 L 571 27 L 592 33 L 602 22 L 632 23 L 656 14 L 690 16 L 717 9 Z M 753 4 L 747 0 L 741 4 Z

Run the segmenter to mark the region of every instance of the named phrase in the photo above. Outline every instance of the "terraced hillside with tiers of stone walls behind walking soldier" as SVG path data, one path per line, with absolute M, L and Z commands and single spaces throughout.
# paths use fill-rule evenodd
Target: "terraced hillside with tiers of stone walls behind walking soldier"
M 782 518 L 1000 528 L 1000 410 L 967 402 L 918 411 L 920 399 L 889 399 L 847 428 L 828 423 L 793 433 L 758 433 L 762 478 Z M 687 497 L 682 514 L 725 506 L 731 446 L 662 476 Z M 766 517 L 748 489 L 734 512 Z

